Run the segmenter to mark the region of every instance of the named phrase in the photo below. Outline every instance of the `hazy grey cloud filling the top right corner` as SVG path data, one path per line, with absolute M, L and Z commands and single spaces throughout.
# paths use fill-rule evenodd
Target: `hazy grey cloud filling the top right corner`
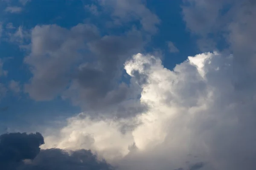
M 252 22 L 256 16 L 254 1 L 184 0 L 183 2 L 185 2 L 183 19 L 187 28 L 200 37 L 198 45 L 201 51 L 212 51 L 222 44 L 234 54 L 235 58 L 240 58 L 239 60 L 244 57 L 242 53 L 246 51 L 246 56 L 252 57 L 252 52 L 254 53 L 252 46 L 256 43 L 254 38 L 256 35 L 253 31 L 256 26 Z

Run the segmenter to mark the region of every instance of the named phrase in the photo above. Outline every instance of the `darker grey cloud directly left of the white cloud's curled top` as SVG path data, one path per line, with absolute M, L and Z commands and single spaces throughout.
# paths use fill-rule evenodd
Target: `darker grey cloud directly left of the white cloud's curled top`
M 94 109 L 122 102 L 130 89 L 117 81 L 125 60 L 143 48 L 142 35 L 139 31 L 130 31 L 124 36 L 104 36 L 90 42 L 89 48 L 97 61 L 80 65 L 65 97 L 84 108 Z

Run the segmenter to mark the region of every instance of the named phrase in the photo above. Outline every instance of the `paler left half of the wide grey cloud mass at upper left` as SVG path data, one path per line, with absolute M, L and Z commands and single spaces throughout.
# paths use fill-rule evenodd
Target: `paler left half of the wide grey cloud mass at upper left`
M 71 30 L 56 25 L 33 28 L 31 53 L 24 59 L 33 77 L 25 85 L 25 91 L 36 100 L 54 98 L 67 87 L 72 76 L 69 72 L 82 57 L 78 51 L 84 49 L 86 41 L 97 37 L 97 29 L 84 24 Z

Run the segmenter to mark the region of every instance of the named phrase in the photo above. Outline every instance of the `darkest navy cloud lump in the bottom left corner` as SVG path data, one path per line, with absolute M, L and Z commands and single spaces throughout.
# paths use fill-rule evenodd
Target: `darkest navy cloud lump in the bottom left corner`
M 0 169 L 12 169 L 25 159 L 35 159 L 44 144 L 40 133 L 6 133 L 0 136 Z

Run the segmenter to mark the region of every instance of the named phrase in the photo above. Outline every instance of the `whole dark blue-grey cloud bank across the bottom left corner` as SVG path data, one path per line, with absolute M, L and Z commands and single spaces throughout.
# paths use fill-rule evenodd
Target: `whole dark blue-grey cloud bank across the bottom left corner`
M 40 133 L 5 133 L 0 136 L 1 170 L 113 170 L 90 150 L 40 150 L 44 138 Z

